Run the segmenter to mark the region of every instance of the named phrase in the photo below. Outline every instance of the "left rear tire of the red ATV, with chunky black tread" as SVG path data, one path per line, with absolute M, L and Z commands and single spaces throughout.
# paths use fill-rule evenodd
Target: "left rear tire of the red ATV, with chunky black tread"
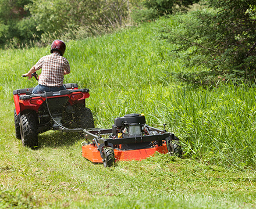
M 33 113 L 25 113 L 20 117 L 20 134 L 23 146 L 35 148 L 38 146 L 37 117 Z

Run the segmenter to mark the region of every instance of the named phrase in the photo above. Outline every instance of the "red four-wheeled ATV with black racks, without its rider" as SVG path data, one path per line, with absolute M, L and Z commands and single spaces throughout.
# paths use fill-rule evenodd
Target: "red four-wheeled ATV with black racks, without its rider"
M 38 80 L 36 73 L 33 74 Z M 64 84 L 67 90 L 32 94 L 33 88 L 13 91 L 16 138 L 23 146 L 37 147 L 38 134 L 50 129 L 94 128 L 93 114 L 86 107 L 89 89 Z

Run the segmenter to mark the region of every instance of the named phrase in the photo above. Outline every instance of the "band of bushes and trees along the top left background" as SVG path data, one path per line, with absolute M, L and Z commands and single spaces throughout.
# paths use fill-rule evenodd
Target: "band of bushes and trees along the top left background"
M 194 0 L 198 1 L 198 0 Z M 0 45 L 24 46 L 55 38 L 83 39 L 136 21 L 170 14 L 192 0 L 1 0 Z

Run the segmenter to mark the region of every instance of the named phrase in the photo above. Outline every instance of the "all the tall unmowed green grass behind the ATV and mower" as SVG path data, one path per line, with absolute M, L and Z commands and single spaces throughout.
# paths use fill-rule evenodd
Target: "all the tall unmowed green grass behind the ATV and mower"
M 168 124 L 182 140 L 186 157 L 253 167 L 255 88 L 226 84 L 204 89 L 173 81 L 166 71 L 189 69 L 168 55 L 175 46 L 158 38 L 165 23 L 68 42 L 65 56 L 72 73 L 65 82 L 90 89 L 87 106 L 98 127 L 111 127 L 113 118 L 127 113 L 145 113 L 150 125 Z M 13 89 L 36 85 L 20 76 L 48 53 L 49 47 L 0 52 L 2 104 L 12 104 Z

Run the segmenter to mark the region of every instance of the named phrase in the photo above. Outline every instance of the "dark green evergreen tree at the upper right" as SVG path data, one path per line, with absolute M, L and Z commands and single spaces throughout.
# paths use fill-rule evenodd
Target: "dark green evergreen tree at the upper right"
M 188 66 L 206 66 L 211 74 L 224 80 L 254 80 L 256 21 L 246 13 L 254 1 L 208 0 L 205 3 L 208 9 L 183 16 L 177 27 L 163 30 L 163 37 L 176 44 L 178 51 L 189 49 L 190 53 L 183 57 Z

